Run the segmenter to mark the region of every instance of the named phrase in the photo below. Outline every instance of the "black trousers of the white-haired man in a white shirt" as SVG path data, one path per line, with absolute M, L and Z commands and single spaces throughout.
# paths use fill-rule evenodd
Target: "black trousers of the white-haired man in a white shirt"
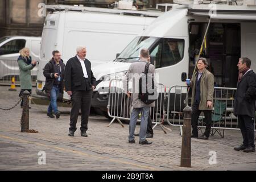
M 76 131 L 77 118 L 81 109 L 81 131 L 88 130 L 88 118 L 90 114 L 90 103 L 92 101 L 92 90 L 89 91 L 74 91 L 72 92 L 71 102 L 72 109 L 70 115 L 69 130 Z

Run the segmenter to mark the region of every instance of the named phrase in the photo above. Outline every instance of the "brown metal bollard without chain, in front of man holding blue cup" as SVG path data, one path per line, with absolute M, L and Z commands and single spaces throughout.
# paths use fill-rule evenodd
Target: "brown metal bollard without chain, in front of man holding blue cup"
M 192 109 L 186 106 L 183 109 L 183 134 L 181 146 L 180 167 L 191 167 L 191 112 Z

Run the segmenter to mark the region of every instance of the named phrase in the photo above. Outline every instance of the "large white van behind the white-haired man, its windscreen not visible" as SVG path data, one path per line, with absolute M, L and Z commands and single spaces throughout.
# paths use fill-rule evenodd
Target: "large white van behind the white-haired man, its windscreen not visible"
M 160 12 L 103 9 L 65 5 L 47 6 L 52 13 L 44 22 L 40 48 L 39 72 L 36 93 L 42 92 L 46 78 L 44 66 L 52 58 L 52 51 L 61 52 L 64 63 L 76 55 L 76 47 L 87 47 L 86 59 L 92 67 L 113 61 L 127 43 L 157 17 Z M 68 100 L 64 93 L 64 100 Z

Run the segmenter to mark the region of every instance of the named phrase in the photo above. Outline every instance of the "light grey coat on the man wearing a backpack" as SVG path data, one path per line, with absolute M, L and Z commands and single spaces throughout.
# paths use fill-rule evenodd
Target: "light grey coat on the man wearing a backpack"
M 138 97 L 139 93 L 139 77 L 141 77 L 141 73 L 144 72 L 145 65 L 147 61 L 139 60 L 138 62 L 132 63 L 130 68 L 128 69 L 126 75 L 123 77 L 123 90 L 127 93 L 127 81 L 132 80 L 133 82 L 133 90 L 130 90 L 133 94 L 133 107 L 140 108 L 140 107 L 154 107 L 155 102 L 151 104 L 144 104 Z M 150 64 L 148 67 L 148 73 L 151 73 L 152 78 L 154 79 L 155 75 L 155 67 L 154 65 Z M 155 89 L 157 89 L 157 82 L 155 81 Z M 158 97 L 158 93 L 155 92 L 156 97 Z

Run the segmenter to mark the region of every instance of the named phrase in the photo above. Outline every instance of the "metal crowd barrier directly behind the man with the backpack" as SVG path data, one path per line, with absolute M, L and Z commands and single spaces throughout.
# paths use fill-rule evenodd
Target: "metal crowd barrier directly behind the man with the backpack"
M 166 133 L 164 128 L 170 130 L 162 125 L 165 117 L 164 100 L 166 97 L 166 86 L 159 84 L 158 91 L 159 97 L 158 100 L 155 101 L 155 107 L 150 108 L 150 117 L 152 119 L 152 123 L 154 124 L 153 129 L 159 125 L 163 129 L 164 133 Z M 113 118 L 109 123 L 109 126 L 112 125 L 115 119 L 117 119 L 122 127 L 124 126 L 121 120 L 130 121 L 132 111 L 132 95 L 131 97 L 127 97 L 127 95 L 124 93 L 122 80 L 110 81 L 107 107 L 109 117 Z M 137 121 L 140 122 L 141 120 L 138 118 Z

